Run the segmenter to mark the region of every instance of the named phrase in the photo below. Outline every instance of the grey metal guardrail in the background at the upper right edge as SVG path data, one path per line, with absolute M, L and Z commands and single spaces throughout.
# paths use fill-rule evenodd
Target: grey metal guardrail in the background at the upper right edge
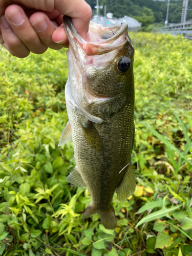
M 160 27 L 159 33 L 170 33 L 172 35 L 182 34 L 185 38 L 192 39 L 192 22 L 174 24 L 172 26 Z

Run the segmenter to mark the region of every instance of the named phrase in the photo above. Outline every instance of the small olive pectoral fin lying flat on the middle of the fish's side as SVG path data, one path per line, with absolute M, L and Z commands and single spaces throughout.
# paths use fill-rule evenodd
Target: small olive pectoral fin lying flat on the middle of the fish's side
M 86 138 L 88 145 L 95 151 L 100 152 L 102 150 L 101 138 L 97 129 L 93 125 L 93 122 L 87 120 L 87 122 L 81 123 L 82 132 Z

